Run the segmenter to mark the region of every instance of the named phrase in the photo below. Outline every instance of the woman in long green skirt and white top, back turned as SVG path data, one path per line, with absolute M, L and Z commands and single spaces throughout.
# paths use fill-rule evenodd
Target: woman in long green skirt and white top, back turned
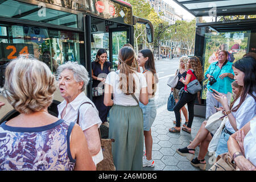
M 142 170 L 143 113 L 139 101 L 147 105 L 146 78 L 132 67 L 134 49 L 122 47 L 118 53 L 118 71 L 110 72 L 105 81 L 104 104 L 109 112 L 109 138 L 115 168 L 118 171 Z M 113 100 L 112 100 L 113 94 Z

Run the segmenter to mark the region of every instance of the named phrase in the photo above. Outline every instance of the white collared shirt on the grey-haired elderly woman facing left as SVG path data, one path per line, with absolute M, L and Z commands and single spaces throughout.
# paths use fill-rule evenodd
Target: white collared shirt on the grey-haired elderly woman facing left
M 90 102 L 91 104 L 83 104 L 83 102 Z M 65 106 L 67 105 L 67 101 L 62 101 L 57 107 L 59 111 L 58 118 L 61 118 L 61 113 L 63 112 Z M 80 109 L 79 106 L 81 105 Z M 93 105 L 93 106 L 92 106 Z M 80 111 L 79 114 L 79 126 L 82 128 L 82 131 L 89 129 L 90 127 L 94 125 L 98 125 L 98 127 L 101 126 L 101 119 L 98 116 L 98 110 L 96 109 L 96 106 L 93 104 L 91 100 L 89 100 L 88 97 L 85 96 L 85 93 L 80 93 L 75 100 L 70 102 L 66 108 L 66 113 L 62 119 L 68 122 L 77 122 L 77 113 L 78 109 Z M 98 152 L 98 154 L 92 156 L 93 162 L 95 165 L 101 160 L 103 160 L 103 154 L 102 150 Z

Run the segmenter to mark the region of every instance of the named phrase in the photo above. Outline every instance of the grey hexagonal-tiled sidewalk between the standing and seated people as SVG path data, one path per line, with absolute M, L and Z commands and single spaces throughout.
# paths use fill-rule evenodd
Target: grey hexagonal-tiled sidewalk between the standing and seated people
M 182 123 L 185 118 L 181 113 Z M 174 111 L 168 111 L 167 105 L 159 107 L 155 121 L 151 127 L 153 138 L 152 158 L 155 160 L 155 167 L 143 167 L 144 171 L 200 171 L 200 168 L 193 167 L 185 156 L 177 154 L 177 148 L 187 147 L 190 140 L 196 137 L 197 131 L 200 129 L 204 118 L 195 117 L 193 119 L 191 134 L 185 131 L 180 133 L 170 133 L 169 129 L 175 126 L 172 122 L 175 120 Z M 145 148 L 144 148 L 145 150 Z M 199 147 L 196 147 L 195 156 L 199 153 Z M 211 156 L 205 156 L 208 170 L 212 164 Z M 210 158 L 210 160 L 209 160 Z

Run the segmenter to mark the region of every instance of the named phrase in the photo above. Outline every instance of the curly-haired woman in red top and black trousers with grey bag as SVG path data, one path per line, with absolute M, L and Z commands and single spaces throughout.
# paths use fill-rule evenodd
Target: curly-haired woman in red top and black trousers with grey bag
M 193 80 L 201 81 L 203 80 L 203 69 L 198 57 L 190 57 L 187 63 L 187 76 L 185 79 L 180 78 L 180 81 L 183 82 L 184 90 L 181 93 L 180 100 L 174 106 L 174 113 L 176 118 L 176 126 L 169 129 L 171 133 L 180 133 L 180 109 L 187 104 L 188 105 L 188 124 L 183 126 L 182 130 L 187 133 L 191 133 L 191 126 L 194 118 L 194 104 L 197 97 L 196 94 L 191 94 L 187 91 L 187 85 Z

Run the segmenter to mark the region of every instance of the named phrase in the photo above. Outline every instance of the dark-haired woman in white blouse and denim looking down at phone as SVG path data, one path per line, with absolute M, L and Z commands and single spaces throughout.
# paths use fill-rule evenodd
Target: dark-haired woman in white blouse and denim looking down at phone
M 214 90 L 217 94 L 213 94 L 213 97 L 221 102 L 227 114 L 224 118 L 225 127 L 217 145 L 216 156 L 228 152 L 227 142 L 230 135 L 245 126 L 256 114 L 255 69 L 256 61 L 253 57 L 243 57 L 233 64 L 234 79 L 238 85 L 243 86 L 243 89 L 241 96 L 236 98 L 230 106 L 227 97 Z

